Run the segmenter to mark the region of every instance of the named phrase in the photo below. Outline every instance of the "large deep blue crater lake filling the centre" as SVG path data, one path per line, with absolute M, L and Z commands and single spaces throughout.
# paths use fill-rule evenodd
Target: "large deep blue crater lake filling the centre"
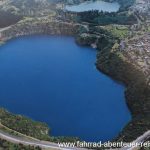
M 130 120 L 124 87 L 72 37 L 28 36 L 0 47 L 0 105 L 46 122 L 54 136 L 106 141 Z

